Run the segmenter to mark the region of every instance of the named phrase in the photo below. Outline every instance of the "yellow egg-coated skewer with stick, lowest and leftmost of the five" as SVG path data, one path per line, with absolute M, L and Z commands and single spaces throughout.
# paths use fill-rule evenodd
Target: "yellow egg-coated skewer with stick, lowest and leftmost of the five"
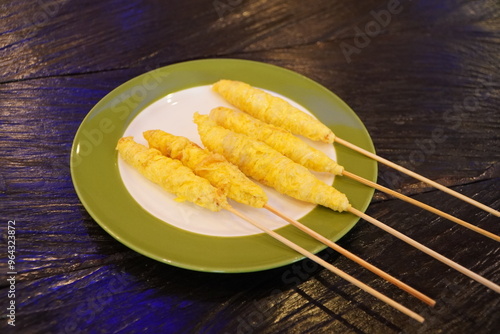
M 264 231 L 269 236 L 287 245 L 294 251 L 308 257 L 363 291 L 394 307 L 398 311 L 419 322 L 424 322 L 424 318 L 419 314 L 341 271 L 317 255 L 310 253 L 259 222 L 235 210 L 228 204 L 226 197 L 220 189 L 213 187 L 206 179 L 196 176 L 190 168 L 184 166 L 180 161 L 168 158 L 156 149 L 147 148 L 144 145 L 138 144 L 132 137 L 121 138 L 118 141 L 116 149 L 118 150 L 119 156 L 125 162 L 132 165 L 148 180 L 160 185 L 167 192 L 177 195 L 178 199 L 189 200 L 211 211 L 225 209 Z M 202 189 L 201 192 L 200 189 Z M 201 198 L 200 193 L 203 193 Z

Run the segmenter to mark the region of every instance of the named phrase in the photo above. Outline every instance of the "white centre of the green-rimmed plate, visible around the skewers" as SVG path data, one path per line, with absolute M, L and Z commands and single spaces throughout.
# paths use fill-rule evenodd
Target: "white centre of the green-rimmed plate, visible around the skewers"
M 290 99 L 274 92 L 270 93 L 280 96 L 295 107 L 308 112 Z M 142 133 L 147 130 L 160 129 L 173 135 L 187 137 L 203 146 L 198 136 L 196 124 L 193 122 L 193 114 L 195 112 L 208 114 L 211 109 L 219 106 L 234 108 L 217 93 L 213 92 L 211 86 L 198 86 L 168 94 L 137 115 L 123 136 L 133 136 L 136 142 L 147 146 Z M 325 152 L 332 159 L 336 159 L 333 145 L 301 139 L 306 140 L 308 144 L 316 149 Z M 125 187 L 137 203 L 165 223 L 187 231 L 211 236 L 234 237 L 262 233 L 261 230 L 250 223 L 227 211 L 211 212 L 189 202 L 175 202 L 174 195 L 165 192 L 158 185 L 147 180 L 120 158 L 118 159 L 118 168 Z M 334 177 L 332 175 L 324 173 L 315 173 L 315 175 L 327 184 L 333 183 Z M 291 218 L 300 219 L 315 207 L 313 204 L 281 195 L 268 187 L 263 186 L 263 188 L 268 195 L 269 205 L 284 212 Z M 232 200 L 229 202 L 234 208 L 261 222 L 268 228 L 276 229 L 287 224 L 265 209 L 248 207 Z M 137 224 L 140 223 L 137 222 Z

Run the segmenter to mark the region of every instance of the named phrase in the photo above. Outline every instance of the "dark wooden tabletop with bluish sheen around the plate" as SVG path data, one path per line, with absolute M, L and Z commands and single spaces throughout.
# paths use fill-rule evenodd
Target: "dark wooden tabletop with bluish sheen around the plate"
M 498 209 L 499 9 L 496 0 L 2 1 L 0 331 L 498 333 L 499 294 L 365 221 L 339 244 L 435 298 L 434 308 L 333 251 L 320 255 L 424 324 L 308 260 L 247 274 L 151 260 L 89 216 L 69 153 L 85 115 L 125 81 L 186 60 L 250 59 L 326 86 L 379 155 Z M 379 182 L 500 233 L 499 218 L 386 167 Z M 500 282 L 497 242 L 378 192 L 367 213 Z

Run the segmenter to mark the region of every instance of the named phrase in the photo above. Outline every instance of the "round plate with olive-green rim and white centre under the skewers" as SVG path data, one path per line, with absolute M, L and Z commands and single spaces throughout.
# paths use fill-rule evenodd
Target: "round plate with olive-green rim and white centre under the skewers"
M 336 135 L 374 152 L 364 125 L 335 94 L 295 72 L 269 64 L 235 60 L 198 60 L 140 75 L 104 97 L 87 115 L 75 136 L 71 173 L 76 192 L 96 222 L 131 249 L 174 266 L 206 272 L 250 272 L 290 264 L 303 258 L 229 212 L 212 213 L 170 194 L 142 178 L 118 158 L 119 138 L 162 129 L 201 143 L 191 122 L 194 112 L 227 105 L 210 90 L 220 79 L 247 82 L 286 98 L 319 118 Z M 346 170 L 376 181 L 372 160 L 340 145 L 314 144 Z M 317 174 L 344 192 L 364 211 L 373 189 L 343 177 Z M 331 240 L 358 221 L 349 213 L 286 198 L 265 188 L 269 203 Z M 232 203 L 281 235 L 317 253 L 324 245 L 261 209 Z

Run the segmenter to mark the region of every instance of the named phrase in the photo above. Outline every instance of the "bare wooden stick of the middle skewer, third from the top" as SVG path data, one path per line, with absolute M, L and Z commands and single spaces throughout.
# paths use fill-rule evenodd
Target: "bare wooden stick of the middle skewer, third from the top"
M 498 286 L 497 284 L 495 284 L 492 281 L 487 280 L 486 278 L 470 271 L 469 269 L 459 265 L 458 263 L 453 262 L 452 260 L 450 260 L 450 259 L 444 257 L 443 255 L 433 251 L 432 249 L 422 245 L 421 243 L 418 243 L 417 241 L 415 241 L 415 240 L 407 237 L 406 235 L 396 231 L 392 227 L 389 227 L 389 226 L 383 224 L 382 222 L 378 221 L 377 219 L 368 216 L 367 214 L 353 208 L 352 206 L 349 207 L 347 209 L 347 211 L 351 212 L 352 214 L 354 214 L 360 218 L 363 218 L 364 220 L 368 221 L 369 223 L 372 223 L 373 225 L 383 229 L 384 231 L 395 236 L 396 238 L 398 238 L 398 239 L 406 242 L 407 244 L 417 248 L 418 250 L 426 253 L 427 255 L 432 256 L 436 260 L 443 262 L 444 264 L 446 264 L 446 265 L 450 266 L 451 268 L 461 272 L 462 274 L 472 278 L 473 280 L 485 285 L 486 287 L 492 289 L 493 291 L 500 293 L 500 286 Z

